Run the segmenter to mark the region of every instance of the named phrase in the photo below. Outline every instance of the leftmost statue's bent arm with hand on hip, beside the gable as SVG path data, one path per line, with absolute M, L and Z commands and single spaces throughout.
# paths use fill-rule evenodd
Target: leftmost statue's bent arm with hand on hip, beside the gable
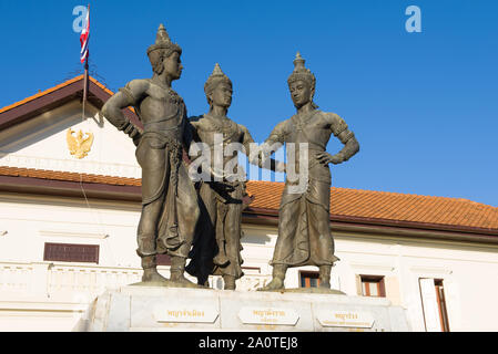
M 135 146 L 139 145 L 142 134 L 140 129 L 124 116 L 121 110 L 138 105 L 145 91 L 146 87 L 141 83 L 141 80 L 132 81 L 126 87 L 120 88 L 120 91 L 110 97 L 102 107 L 103 116 L 119 131 L 128 134 L 133 139 Z

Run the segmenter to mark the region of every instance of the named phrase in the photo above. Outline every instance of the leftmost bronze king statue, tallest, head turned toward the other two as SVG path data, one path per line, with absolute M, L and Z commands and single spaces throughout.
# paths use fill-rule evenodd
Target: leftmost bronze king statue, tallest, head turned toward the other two
M 129 82 L 102 107 L 102 114 L 136 145 L 142 167 L 142 214 L 138 228 L 138 254 L 142 259 L 142 282 L 171 287 L 197 285 L 184 277 L 200 209 L 195 188 L 182 159 L 190 144 L 186 108 L 171 87 L 183 66 L 182 49 L 160 25 L 155 43 L 149 46 L 152 79 Z M 143 131 L 121 112 L 134 107 Z M 156 256 L 171 257 L 171 278 L 156 270 Z

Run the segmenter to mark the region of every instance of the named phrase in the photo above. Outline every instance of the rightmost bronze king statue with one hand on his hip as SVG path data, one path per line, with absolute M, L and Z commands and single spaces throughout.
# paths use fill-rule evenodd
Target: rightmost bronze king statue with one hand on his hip
M 271 264 L 272 281 L 261 290 L 284 289 L 288 267 L 316 266 L 319 268 L 319 287 L 331 288 L 331 270 L 338 260 L 334 256 L 334 239 L 331 235 L 331 170 L 328 164 L 348 160 L 359 150 L 359 144 L 346 122 L 335 113 L 318 111 L 313 102 L 315 75 L 304 66 L 304 59 L 297 53 L 294 72 L 287 80 L 291 97 L 297 113 L 280 123 L 265 143 L 294 143 L 296 149 L 307 146 L 304 156 L 296 152 L 295 170 L 307 169 L 308 183 L 305 190 L 296 191 L 288 178 L 282 195 L 278 215 L 278 238 Z M 331 135 L 337 137 L 344 148 L 331 155 L 326 152 Z M 304 145 L 303 145 L 304 144 Z M 307 157 L 307 158 L 306 158 Z

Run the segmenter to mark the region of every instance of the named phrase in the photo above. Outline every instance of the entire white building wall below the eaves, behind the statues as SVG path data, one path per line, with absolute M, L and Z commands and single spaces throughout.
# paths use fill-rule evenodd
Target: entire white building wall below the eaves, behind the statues
M 0 262 L 42 262 L 44 242 L 100 246 L 99 267 L 140 271 L 135 232 L 140 205 L 69 198 L 0 195 Z M 270 279 L 276 228 L 244 226 L 244 267 Z M 105 237 L 104 237 L 105 236 Z M 407 309 L 415 331 L 425 331 L 419 278 L 443 279 L 451 331 L 497 331 L 498 247 L 461 242 L 335 233 L 333 287 L 357 295 L 357 274 L 384 275 L 386 295 Z M 88 268 L 89 264 L 80 264 Z M 312 267 L 303 268 L 316 270 Z M 296 288 L 298 270 L 287 272 Z M 1 298 L 1 295 L 0 295 Z

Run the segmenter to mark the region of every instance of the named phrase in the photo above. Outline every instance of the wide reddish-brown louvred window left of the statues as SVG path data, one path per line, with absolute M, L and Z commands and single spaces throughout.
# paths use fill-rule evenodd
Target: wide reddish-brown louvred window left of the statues
M 99 244 L 72 244 L 47 242 L 44 261 L 99 263 Z

